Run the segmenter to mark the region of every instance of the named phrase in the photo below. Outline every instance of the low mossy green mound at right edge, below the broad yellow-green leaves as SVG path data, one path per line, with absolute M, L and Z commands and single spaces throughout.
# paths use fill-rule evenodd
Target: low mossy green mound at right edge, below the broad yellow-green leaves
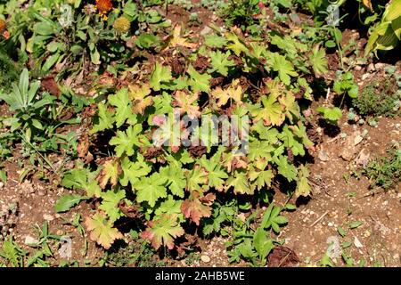
M 373 80 L 364 86 L 353 104 L 364 116 L 395 116 L 400 110 L 401 94 L 397 91 L 393 77 L 384 80 Z

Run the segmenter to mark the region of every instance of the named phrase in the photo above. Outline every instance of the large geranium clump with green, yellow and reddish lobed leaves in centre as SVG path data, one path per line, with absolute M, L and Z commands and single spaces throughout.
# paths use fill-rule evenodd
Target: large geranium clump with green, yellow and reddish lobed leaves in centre
M 310 194 L 307 168 L 294 161 L 313 147 L 295 93 L 303 87 L 310 94 L 302 70 L 323 72 L 323 53 L 317 48 L 312 62 L 300 69 L 291 62 L 295 55 L 286 52 L 282 37 L 274 38 L 280 52 L 233 32 L 210 36 L 199 46 L 176 26 L 164 49 L 194 54 L 186 59 L 183 74 L 175 75 L 166 61 L 156 61 L 142 82 L 99 102 L 89 133 L 112 134 L 109 155 L 97 153 L 97 165 L 72 169 L 62 181 L 99 201 L 86 219 L 92 240 L 110 248 L 122 236 L 116 224 L 128 217 L 143 224 L 141 236 L 153 248 L 174 249 L 188 224 L 204 225 L 206 234 L 221 232 L 233 210 L 214 208 L 219 193 L 254 197 L 281 175 L 298 184 L 297 196 Z M 209 62 L 208 69 L 193 62 L 198 55 Z M 309 59 L 307 52 L 302 56 Z M 212 84 L 222 76 L 222 85 Z M 258 95 L 250 98 L 251 93 Z M 227 121 L 228 126 L 208 115 L 241 119 Z M 201 119 L 201 126 L 188 126 L 187 118 Z M 224 135 L 227 127 L 235 134 L 230 138 Z M 60 205 L 73 207 L 80 199 Z M 216 215 L 225 217 L 214 221 Z M 279 222 L 281 218 L 269 227 L 277 232 Z

